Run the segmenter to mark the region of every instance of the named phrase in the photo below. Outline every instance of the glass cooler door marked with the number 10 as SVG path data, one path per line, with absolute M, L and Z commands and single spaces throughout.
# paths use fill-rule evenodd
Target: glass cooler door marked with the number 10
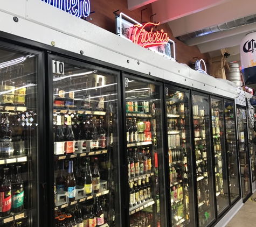
M 81 62 L 51 59 L 55 221 L 115 226 L 117 76 Z

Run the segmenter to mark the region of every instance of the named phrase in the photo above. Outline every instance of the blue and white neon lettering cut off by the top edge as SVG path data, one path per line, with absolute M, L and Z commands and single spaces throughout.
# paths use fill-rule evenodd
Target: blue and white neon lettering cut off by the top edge
M 41 0 L 71 15 L 81 18 L 88 17 L 91 10 L 90 0 Z

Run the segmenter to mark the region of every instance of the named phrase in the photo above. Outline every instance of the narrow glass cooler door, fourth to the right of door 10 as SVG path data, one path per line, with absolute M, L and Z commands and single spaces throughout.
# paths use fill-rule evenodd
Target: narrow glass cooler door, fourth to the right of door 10
M 212 136 L 215 152 L 215 186 L 218 215 L 229 207 L 223 100 L 211 98 Z

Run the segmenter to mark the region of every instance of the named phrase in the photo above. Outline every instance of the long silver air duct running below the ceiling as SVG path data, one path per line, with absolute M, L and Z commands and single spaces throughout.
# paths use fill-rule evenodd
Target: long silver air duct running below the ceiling
M 220 32 L 220 31 L 225 31 L 225 30 L 229 30 L 229 29 L 234 29 L 235 27 L 243 26 L 243 25 L 251 24 L 251 23 L 255 23 L 255 22 L 256 22 L 256 14 L 250 15 L 250 16 L 247 16 L 247 17 L 243 17 L 243 18 L 239 18 L 239 19 L 236 19 L 236 20 L 232 20 L 230 22 L 226 22 L 226 23 L 223 23 L 223 24 L 218 24 L 218 25 L 215 25 L 215 26 L 207 27 L 205 29 L 198 30 L 198 31 L 195 31 L 195 32 L 191 32 L 191 33 L 188 33 L 188 34 L 184 34 L 182 36 L 176 37 L 176 39 L 183 42 L 183 41 L 193 39 L 193 38 L 196 38 L 196 37 L 206 36 L 207 34 Z

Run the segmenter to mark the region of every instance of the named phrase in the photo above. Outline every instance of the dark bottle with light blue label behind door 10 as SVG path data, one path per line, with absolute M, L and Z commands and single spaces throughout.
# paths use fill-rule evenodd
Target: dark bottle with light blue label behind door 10
M 73 173 L 73 161 L 68 161 L 68 171 L 65 179 L 65 191 L 69 201 L 75 200 L 75 178 Z

